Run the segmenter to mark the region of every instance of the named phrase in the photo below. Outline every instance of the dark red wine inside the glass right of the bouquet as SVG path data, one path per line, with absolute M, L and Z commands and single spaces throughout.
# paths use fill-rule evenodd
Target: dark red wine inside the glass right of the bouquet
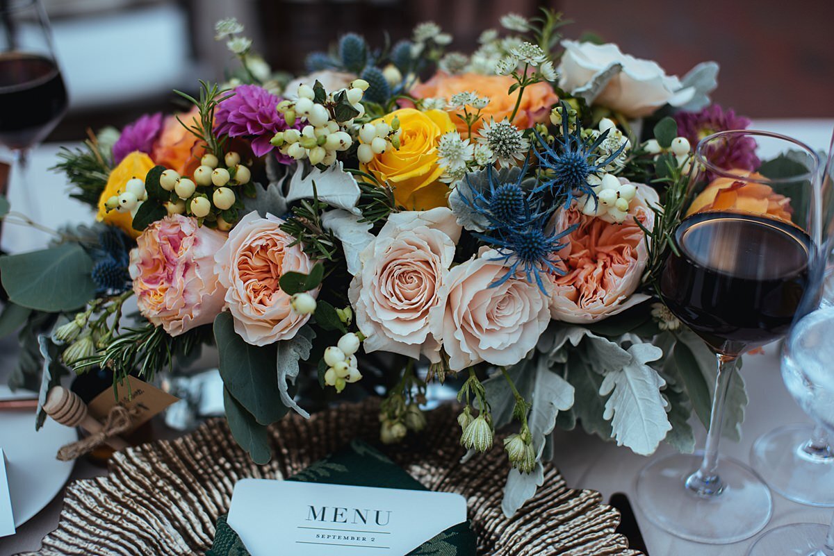
M 805 293 L 811 239 L 770 216 L 701 212 L 676 231 L 661 295 L 718 353 L 740 355 L 785 335 Z

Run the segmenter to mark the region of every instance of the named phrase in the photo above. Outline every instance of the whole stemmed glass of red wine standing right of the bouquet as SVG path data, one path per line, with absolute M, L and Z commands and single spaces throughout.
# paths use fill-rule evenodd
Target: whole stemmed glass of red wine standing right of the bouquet
M 759 171 L 754 151 L 786 153 Z M 661 273 L 671 312 L 716 354 L 706 448 L 655 459 L 638 475 L 637 502 L 667 532 L 701 543 L 747 539 L 771 518 L 770 490 L 755 471 L 720 457 L 726 393 L 738 357 L 786 334 L 809 281 L 821 237 L 819 157 L 790 137 L 718 132 L 696 147 L 694 199 Z

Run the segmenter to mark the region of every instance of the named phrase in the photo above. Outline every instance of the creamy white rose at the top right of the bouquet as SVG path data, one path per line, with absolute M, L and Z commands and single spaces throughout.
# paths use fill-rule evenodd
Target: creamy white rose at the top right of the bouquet
M 565 40 L 562 46 L 565 54 L 559 66 L 559 87 L 576 94 L 595 77 L 614 72 L 590 103 L 625 117 L 646 117 L 665 104 L 681 107 L 698 93 L 696 87 L 684 87 L 678 77 L 667 76 L 657 62 L 624 54 L 615 44 Z

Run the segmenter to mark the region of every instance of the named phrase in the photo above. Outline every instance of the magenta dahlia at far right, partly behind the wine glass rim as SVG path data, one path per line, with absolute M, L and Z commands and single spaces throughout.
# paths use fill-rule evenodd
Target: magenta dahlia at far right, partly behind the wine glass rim
M 701 112 L 678 112 L 675 120 L 678 124 L 678 135 L 686 137 L 693 148 L 708 135 L 731 129 L 746 129 L 751 123 L 749 118 L 736 116 L 736 112 L 732 110 L 725 112 L 717 104 L 706 107 Z M 724 143 L 721 149 L 708 149 L 705 154 L 712 164 L 727 170 L 756 170 L 761 164 L 756 156 L 756 140 L 752 137 L 738 137 Z

